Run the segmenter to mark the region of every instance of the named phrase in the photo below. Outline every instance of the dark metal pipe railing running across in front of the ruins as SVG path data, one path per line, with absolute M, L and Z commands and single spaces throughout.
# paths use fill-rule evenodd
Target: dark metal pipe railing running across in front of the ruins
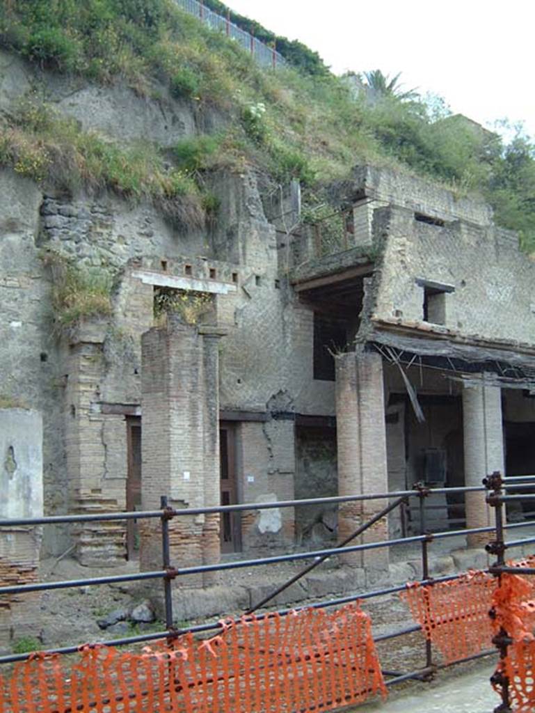
M 526 488 L 526 481 L 523 478 L 511 478 L 511 481 L 502 481 L 502 487 L 507 491 L 507 495 L 503 495 L 502 491 L 497 493 L 499 497 L 499 502 L 507 502 L 511 499 L 526 498 L 525 494 L 514 495 L 514 491 L 519 491 L 522 488 Z M 216 506 L 209 508 L 172 508 L 167 505 L 167 498 L 162 497 L 161 508 L 154 511 L 136 511 L 133 513 L 98 513 L 94 515 L 51 515 L 42 518 L 15 518 L 10 520 L 0 520 L 0 534 L 2 528 L 13 528 L 21 527 L 24 525 L 28 526 L 38 526 L 47 524 L 57 524 L 57 523 L 87 523 L 87 522 L 103 522 L 103 521 L 115 521 L 115 520 L 131 520 L 131 519 L 160 519 L 161 523 L 161 535 L 162 535 L 162 567 L 158 570 L 153 570 L 149 572 L 131 573 L 125 575 L 109 575 L 104 577 L 95 578 L 84 578 L 84 579 L 73 579 L 65 581 L 56 582 L 42 582 L 42 583 L 30 583 L 25 585 L 9 585 L 0 586 L 0 597 L 4 595 L 24 595 L 25 593 L 31 593 L 36 591 L 46 591 L 55 590 L 63 588 L 75 588 L 80 586 L 94 586 L 112 583 L 124 583 L 124 582 L 134 582 L 150 579 L 160 579 L 163 583 L 164 588 L 164 601 L 165 601 L 165 629 L 160 632 L 150 632 L 135 636 L 128 636 L 113 640 L 104 640 L 99 642 L 98 645 L 108 645 L 113 647 L 130 645 L 137 642 L 149 642 L 154 640 L 172 640 L 176 637 L 183 635 L 187 632 L 197 633 L 197 632 L 208 632 L 212 630 L 218 630 L 222 627 L 222 622 L 207 622 L 205 624 L 194 625 L 192 627 L 177 629 L 174 625 L 173 616 L 173 603 L 172 603 L 172 583 L 174 580 L 180 580 L 180 577 L 185 575 L 199 574 L 204 572 L 214 572 L 214 571 L 227 571 L 234 570 L 237 568 L 252 568 L 260 565 L 270 565 L 274 563 L 290 562 L 290 561 L 300 561 L 300 560 L 313 560 L 309 563 L 306 568 L 303 568 L 296 575 L 292 576 L 286 582 L 281 585 L 274 587 L 274 589 L 264 597 L 259 602 L 247 610 L 245 613 L 256 612 L 261 607 L 265 607 L 271 600 L 274 599 L 281 592 L 286 590 L 291 584 L 296 582 L 298 579 L 302 578 L 313 568 L 320 565 L 323 561 L 330 558 L 333 555 L 345 555 L 347 553 L 364 552 L 366 550 L 374 550 L 378 548 L 393 548 L 398 545 L 406 545 L 407 543 L 420 543 L 421 551 L 421 566 L 422 566 L 422 579 L 419 580 L 420 584 L 431 584 L 440 583 L 455 580 L 459 577 L 461 573 L 456 573 L 452 575 L 445 575 L 441 577 L 432 578 L 430 576 L 430 561 L 429 561 L 429 549 L 435 540 L 444 540 L 447 538 L 453 538 L 459 535 L 468 535 L 475 533 L 492 533 L 494 532 L 494 526 L 481 527 L 481 528 L 470 528 L 462 530 L 447 530 L 445 532 L 439 533 L 427 533 L 426 531 L 426 506 L 425 502 L 428 496 L 432 494 L 445 494 L 445 493 L 467 493 L 467 492 L 483 492 L 487 491 L 487 486 L 472 486 L 465 488 L 435 488 L 428 489 L 423 486 L 418 485 L 412 490 L 406 491 L 395 491 L 390 493 L 368 493 L 366 495 L 355 495 L 355 496 L 337 496 L 331 498 L 309 498 L 302 500 L 293 501 L 276 501 L 271 503 L 241 503 L 239 505 L 229 505 L 229 506 Z M 496 495 L 496 493 L 495 493 Z M 422 534 L 412 535 L 410 537 L 404 538 L 393 538 L 389 540 L 383 540 L 380 542 L 369 542 L 360 543 L 357 545 L 351 545 L 350 542 L 355 538 L 363 535 L 368 528 L 377 523 L 379 520 L 385 518 L 390 512 L 399 508 L 402 503 L 407 503 L 409 498 L 417 498 L 419 502 L 419 513 L 420 513 L 420 529 Z M 529 498 L 535 498 L 535 495 L 529 496 Z M 376 513 L 373 518 L 370 518 L 367 522 L 360 525 L 346 537 L 341 543 L 338 543 L 335 547 L 323 548 L 319 550 L 309 550 L 306 552 L 292 552 L 281 555 L 272 555 L 270 557 L 264 558 L 251 558 L 248 560 L 237 560 L 232 562 L 219 562 L 209 565 L 197 565 L 192 567 L 181 568 L 180 563 L 175 563 L 173 565 L 170 558 L 170 534 L 169 534 L 169 524 L 174 518 L 180 518 L 191 515 L 199 514 L 211 514 L 211 513 L 232 513 L 240 511 L 260 511 L 268 510 L 271 508 L 293 508 L 296 506 L 313 506 L 318 504 L 333 504 L 333 503 L 348 503 L 348 502 L 363 502 L 363 501 L 378 501 L 386 500 L 390 501 L 384 508 L 382 508 L 378 513 Z M 492 498 L 489 498 L 489 503 L 492 504 Z M 503 540 L 504 530 L 516 530 L 518 528 L 533 527 L 534 523 L 531 521 L 521 522 L 521 523 L 502 523 L 500 520 L 497 528 L 499 529 L 499 535 Z M 497 535 L 498 539 L 498 535 Z M 529 543 L 535 543 L 535 537 L 523 538 L 521 540 L 512 540 L 509 543 L 505 543 L 504 546 L 508 548 L 519 547 L 521 545 L 526 545 Z M 488 550 L 491 551 L 492 550 Z M 504 568 L 503 558 L 499 560 L 497 564 L 499 572 L 507 571 Z M 491 568 L 491 572 L 497 572 L 496 568 Z M 521 569 L 516 568 L 515 573 L 521 573 Z M 535 570 L 534 570 L 535 571 Z M 306 603 L 300 606 L 291 607 L 291 609 L 277 610 L 277 613 L 281 616 L 286 616 L 290 612 L 294 612 L 299 608 L 312 607 L 312 608 L 324 608 L 324 607 L 335 607 L 347 604 L 349 602 L 355 602 L 356 600 L 370 600 L 374 597 L 379 597 L 383 595 L 393 594 L 402 592 L 405 590 L 406 585 L 394 585 L 386 588 L 380 588 L 376 590 L 370 590 L 365 592 L 355 592 L 343 597 L 331 598 L 328 600 L 323 600 L 319 602 L 314 602 L 312 604 Z M 272 615 L 273 612 L 260 613 L 256 615 L 256 618 L 262 619 L 266 616 Z M 412 632 L 420 630 L 419 625 L 411 625 L 403 627 L 402 629 L 392 630 L 382 635 L 374 637 L 375 642 L 385 641 L 400 637 L 403 635 L 408 635 Z M 490 642 L 489 642 L 490 644 Z M 93 646 L 96 644 L 93 644 Z M 77 652 L 80 649 L 79 645 L 66 646 L 48 649 L 43 652 L 46 655 L 51 654 L 69 654 Z M 477 655 L 467 657 L 462 660 L 455 661 L 455 664 L 464 662 L 467 660 L 473 660 L 479 657 L 491 655 L 495 653 L 494 650 L 489 649 L 481 652 Z M 11 662 L 20 662 L 31 657 L 29 653 L 23 654 L 11 654 L 4 655 L 0 657 L 0 664 L 7 664 Z M 433 661 L 433 650 L 432 645 L 429 641 L 425 641 L 425 666 L 419 669 L 415 669 L 409 672 L 402 671 L 391 671 L 383 670 L 383 674 L 388 678 L 386 685 L 391 687 L 402 681 L 408 679 L 425 680 L 430 674 L 435 673 L 441 668 L 445 668 L 452 664 L 437 664 Z

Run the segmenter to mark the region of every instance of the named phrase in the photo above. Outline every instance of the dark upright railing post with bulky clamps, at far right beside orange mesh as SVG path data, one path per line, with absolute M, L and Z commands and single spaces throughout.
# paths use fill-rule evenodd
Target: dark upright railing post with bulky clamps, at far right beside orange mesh
M 492 473 L 492 476 L 484 478 L 483 485 L 488 491 L 492 491 L 487 496 L 487 503 L 491 508 L 494 508 L 496 529 L 494 535 L 494 541 L 487 544 L 485 549 L 491 555 L 496 555 L 496 565 L 497 567 L 503 567 L 505 564 L 505 550 L 507 545 L 504 543 L 504 506 L 500 496 L 502 495 L 502 475 L 498 471 Z M 494 574 L 498 578 L 498 587 L 502 583 L 502 573 L 499 572 Z M 489 616 L 494 618 L 496 616 L 496 611 L 494 607 L 489 611 Z M 500 627 L 499 633 L 492 638 L 492 643 L 497 650 L 499 650 L 499 657 L 501 661 L 507 659 L 507 648 L 512 643 L 507 631 L 503 626 Z M 496 671 L 491 677 L 491 682 L 499 687 L 500 694 L 502 696 L 502 703 L 499 704 L 497 708 L 494 708 L 494 713 L 511 713 L 511 700 L 509 698 L 509 678 L 504 675 L 501 671 Z

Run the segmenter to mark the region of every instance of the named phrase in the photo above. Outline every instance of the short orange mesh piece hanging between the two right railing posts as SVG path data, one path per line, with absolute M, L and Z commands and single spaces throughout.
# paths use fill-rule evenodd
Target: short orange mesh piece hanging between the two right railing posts
M 489 609 L 497 582 L 469 572 L 451 582 L 409 584 L 400 594 L 427 640 L 452 663 L 492 647 Z

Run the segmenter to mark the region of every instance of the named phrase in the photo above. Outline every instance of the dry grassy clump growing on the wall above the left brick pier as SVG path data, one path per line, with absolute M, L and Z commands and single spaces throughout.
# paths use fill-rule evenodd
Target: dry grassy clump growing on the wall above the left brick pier
M 71 327 L 83 317 L 112 314 L 110 272 L 76 265 L 58 252 L 45 252 L 42 259 L 52 272 L 52 307 L 60 328 Z

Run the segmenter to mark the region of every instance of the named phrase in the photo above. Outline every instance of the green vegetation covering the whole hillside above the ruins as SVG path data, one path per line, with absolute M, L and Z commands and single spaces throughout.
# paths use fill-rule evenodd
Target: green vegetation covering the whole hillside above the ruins
M 299 43 L 285 49 L 279 39 L 277 49 L 288 58 L 293 52 L 296 66 L 263 71 L 237 43 L 182 13 L 172 0 L 0 0 L 0 5 L 0 43 L 43 67 L 103 83 L 120 78 L 147 97 L 158 92 L 160 100 L 169 91 L 199 111 L 217 108 L 227 117 L 227 130 L 184 140 L 171 157 L 163 157 L 151 145 L 105 142 L 34 106 L 29 118 L 26 111 L 0 127 L 0 163 L 21 175 L 66 188 L 83 183 L 150 198 L 182 227 L 199 227 L 217 210 L 206 191 L 207 173 L 217 168 L 242 171 L 254 165 L 274 187 L 298 178 L 305 205 L 323 210 L 328 199 L 322 185 L 347 178 L 358 163 L 386 165 L 458 194 L 479 193 L 494 206 L 497 222 L 518 230 L 526 250 L 535 249 L 531 140 L 517 132 L 506 144 L 450 116 L 437 98 L 402 91 L 399 76 L 368 73 L 370 90 L 357 95 L 348 78 L 329 73 L 315 53 Z M 207 6 L 225 14 L 219 0 Z M 234 14 L 231 19 L 254 29 L 259 39 L 274 39 L 254 21 Z M 164 158 L 172 168 L 165 168 Z

